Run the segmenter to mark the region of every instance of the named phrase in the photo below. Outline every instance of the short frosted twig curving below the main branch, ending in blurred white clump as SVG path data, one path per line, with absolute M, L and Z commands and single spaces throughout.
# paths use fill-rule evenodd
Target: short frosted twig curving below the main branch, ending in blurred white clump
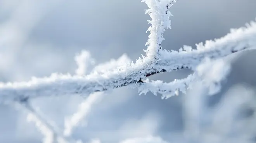
M 171 96 L 178 95 L 179 92 L 186 93 L 187 89 L 191 89 L 194 82 L 202 82 L 204 86 L 209 89 L 209 95 L 220 92 L 221 82 L 226 79 L 230 72 L 230 64 L 222 59 L 211 60 L 205 58 L 201 64 L 197 66 L 194 74 L 190 74 L 187 78 L 173 82 L 164 83 L 161 80 L 144 81 L 143 84 L 138 86 L 140 94 L 147 94 L 152 92 L 154 95 L 157 93 L 162 94 L 162 99 L 168 99 Z

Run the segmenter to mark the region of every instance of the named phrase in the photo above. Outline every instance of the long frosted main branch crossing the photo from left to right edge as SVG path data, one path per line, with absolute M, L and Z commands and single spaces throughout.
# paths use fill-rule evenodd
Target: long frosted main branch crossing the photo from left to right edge
M 0 83 L 0 102 L 62 95 L 88 95 L 127 85 L 139 86 L 142 80 L 161 72 L 183 68 L 194 69 L 204 58 L 222 58 L 244 49 L 256 48 L 256 24 L 232 31 L 215 41 L 198 44 L 196 50 L 185 46 L 183 51 L 161 51 L 159 60 L 144 57 L 134 64 L 119 67 L 104 74 L 86 76 L 53 74 L 46 78 L 32 78 L 29 82 Z

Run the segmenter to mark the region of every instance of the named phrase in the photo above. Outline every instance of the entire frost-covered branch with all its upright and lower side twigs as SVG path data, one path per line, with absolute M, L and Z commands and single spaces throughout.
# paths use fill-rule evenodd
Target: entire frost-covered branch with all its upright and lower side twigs
M 33 121 L 39 131 L 45 135 L 45 143 L 78 143 L 71 138 L 73 129 L 87 116 L 92 105 L 103 96 L 100 92 L 129 86 L 137 87 L 140 94 L 152 92 L 156 95 L 158 93 L 163 95 L 163 99 L 167 99 L 178 95 L 179 92 L 185 93 L 193 82 L 199 81 L 209 87 L 209 94 L 215 94 L 220 90 L 220 82 L 230 72 L 230 65 L 221 58 L 244 49 L 256 48 L 256 22 L 251 22 L 246 27 L 232 29 L 229 34 L 220 39 L 196 44 L 196 49 L 184 46 L 179 51 L 167 51 L 162 48 L 163 33 L 166 29 L 171 29 L 170 16 L 173 15 L 169 9 L 176 0 L 142 0 L 142 2 L 148 5 L 146 14 L 151 18 L 148 20 L 151 26 L 147 30 L 150 32 L 146 43 L 147 49 L 144 50 L 146 56 L 142 55 L 136 63 L 126 63 L 124 61 L 130 59 L 124 54 L 118 60 L 100 64 L 88 72 L 95 62 L 89 52 L 82 51 L 75 58 L 78 64 L 76 75 L 53 73 L 50 77 L 33 77 L 28 82 L 0 83 L 0 104 L 17 102 L 26 109 L 29 112 L 28 120 Z M 146 79 L 157 73 L 184 68 L 189 68 L 194 73 L 187 78 L 170 83 Z M 94 94 L 94 92 L 97 93 Z M 50 124 L 29 104 L 29 100 L 33 98 L 74 94 L 89 96 L 81 103 L 78 111 L 65 121 L 64 131 Z M 130 141 L 165 143 L 153 137 L 134 138 L 122 143 Z

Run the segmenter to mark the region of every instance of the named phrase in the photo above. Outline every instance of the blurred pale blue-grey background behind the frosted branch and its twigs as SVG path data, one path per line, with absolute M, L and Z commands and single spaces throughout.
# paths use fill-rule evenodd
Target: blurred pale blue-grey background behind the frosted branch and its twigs
M 163 48 L 195 47 L 225 36 L 230 28 L 255 20 L 255 5 L 255 0 L 179 0 L 170 10 L 172 29 L 164 33 Z M 135 61 L 144 54 L 148 38 L 150 17 L 144 9 L 147 5 L 140 0 L 0 0 L 0 81 L 74 74 L 74 57 L 81 50 L 89 51 L 96 65 L 124 53 L 123 61 Z M 232 71 L 213 96 L 197 84 L 186 95 L 167 100 L 151 93 L 139 96 L 137 89 L 126 87 L 104 94 L 86 117 L 86 126 L 74 129 L 73 138 L 118 143 L 152 135 L 170 143 L 254 142 L 255 55 L 256 51 L 231 55 Z M 180 70 L 150 79 L 170 82 L 189 73 Z M 35 99 L 32 104 L 63 127 L 64 117 L 76 112 L 81 102 L 70 96 Z M 233 113 L 235 119 L 230 118 Z M 1 143 L 42 141 L 43 135 L 26 116 L 26 111 L 0 105 Z

